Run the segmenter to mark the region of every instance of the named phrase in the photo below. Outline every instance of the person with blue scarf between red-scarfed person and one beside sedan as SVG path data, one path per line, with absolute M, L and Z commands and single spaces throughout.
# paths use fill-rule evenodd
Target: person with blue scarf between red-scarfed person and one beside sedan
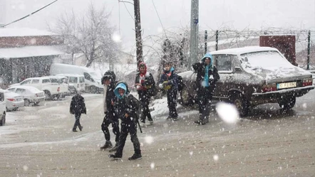
M 175 73 L 172 63 L 167 61 L 164 64 L 164 70 L 160 77 L 159 87 L 167 92 L 167 107 L 169 109 L 169 116 L 167 119 L 172 119 L 176 121 L 178 119 L 178 114 L 176 110 L 177 106 L 177 85 L 178 76 Z

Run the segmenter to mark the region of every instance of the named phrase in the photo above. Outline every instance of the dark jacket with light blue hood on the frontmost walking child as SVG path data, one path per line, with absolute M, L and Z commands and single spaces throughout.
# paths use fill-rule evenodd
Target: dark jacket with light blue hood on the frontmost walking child
M 125 90 L 123 95 L 120 95 L 118 90 Z M 115 87 L 115 112 L 122 122 L 135 122 L 138 119 L 137 111 L 139 109 L 139 101 L 129 94 L 128 85 L 125 82 L 118 82 Z M 129 117 L 125 117 L 128 114 Z

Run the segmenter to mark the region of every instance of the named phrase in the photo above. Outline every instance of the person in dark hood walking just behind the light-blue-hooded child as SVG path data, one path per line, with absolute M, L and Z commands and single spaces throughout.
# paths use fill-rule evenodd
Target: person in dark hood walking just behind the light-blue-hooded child
M 106 71 L 102 77 L 102 83 L 104 85 L 103 110 L 105 116 L 101 124 L 101 129 L 105 136 L 105 144 L 101 146 L 100 149 L 109 149 L 109 151 L 115 151 L 117 149 L 120 134 L 118 117 L 115 115 L 113 106 L 113 100 L 115 99 L 115 79 L 116 75 L 111 70 Z M 108 129 L 110 124 L 112 124 L 113 127 L 113 134 L 115 134 L 115 146 L 113 146 L 110 141 L 110 132 Z

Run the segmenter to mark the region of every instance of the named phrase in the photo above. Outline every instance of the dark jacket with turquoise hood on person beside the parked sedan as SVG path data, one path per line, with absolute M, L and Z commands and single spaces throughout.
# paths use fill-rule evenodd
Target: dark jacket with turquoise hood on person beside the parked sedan
M 210 58 L 210 64 L 208 65 L 208 68 L 205 64 L 205 58 Z M 215 88 L 215 83 L 217 82 L 217 80 L 220 80 L 220 75 L 217 73 L 217 68 L 215 67 L 215 65 L 213 65 L 213 57 L 210 53 L 206 53 L 199 63 L 194 63 L 192 65 L 192 68 L 195 70 L 195 73 L 197 73 L 195 89 L 200 90 L 200 88 L 204 87 L 202 85 L 202 82 L 204 82 L 205 80 L 208 81 L 209 87 L 211 89 Z M 206 75 L 207 70 L 208 73 Z M 211 75 L 213 78 L 211 77 Z

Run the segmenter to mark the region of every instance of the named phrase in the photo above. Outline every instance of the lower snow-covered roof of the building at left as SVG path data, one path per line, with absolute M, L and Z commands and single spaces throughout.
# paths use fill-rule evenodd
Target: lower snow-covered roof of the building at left
M 53 46 L 26 46 L 20 48 L 0 48 L 0 58 L 27 58 L 48 55 L 61 55 L 62 51 Z

